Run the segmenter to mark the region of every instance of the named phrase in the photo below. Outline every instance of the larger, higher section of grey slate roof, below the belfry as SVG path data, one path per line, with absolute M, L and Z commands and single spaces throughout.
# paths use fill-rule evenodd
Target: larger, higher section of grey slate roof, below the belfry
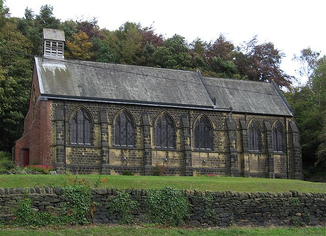
M 213 108 L 197 72 L 35 57 L 41 94 Z

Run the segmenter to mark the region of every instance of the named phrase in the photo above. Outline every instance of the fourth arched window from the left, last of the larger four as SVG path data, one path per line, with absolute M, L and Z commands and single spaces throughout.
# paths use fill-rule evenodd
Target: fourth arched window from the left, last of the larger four
M 211 149 L 212 129 L 205 116 L 201 116 L 194 127 L 195 149 Z

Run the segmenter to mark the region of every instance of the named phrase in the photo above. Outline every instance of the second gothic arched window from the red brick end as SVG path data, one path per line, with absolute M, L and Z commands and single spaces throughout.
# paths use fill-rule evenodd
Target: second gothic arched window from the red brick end
M 115 122 L 115 145 L 132 146 L 134 144 L 134 126 L 131 116 L 121 112 Z

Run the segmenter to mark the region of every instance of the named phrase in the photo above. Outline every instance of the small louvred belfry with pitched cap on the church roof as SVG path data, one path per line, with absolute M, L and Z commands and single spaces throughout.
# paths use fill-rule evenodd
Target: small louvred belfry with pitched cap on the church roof
M 43 28 L 43 63 L 64 65 L 63 31 Z

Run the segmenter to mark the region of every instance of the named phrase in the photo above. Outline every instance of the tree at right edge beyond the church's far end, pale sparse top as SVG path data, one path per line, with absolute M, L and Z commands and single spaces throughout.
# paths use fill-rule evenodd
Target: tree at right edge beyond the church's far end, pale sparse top
M 288 93 L 301 132 L 303 162 L 306 166 L 314 162 L 325 165 L 326 56 L 320 58 L 317 52 L 307 48 L 296 58 L 300 58 L 301 64 L 309 69 L 306 73 L 308 82 Z

